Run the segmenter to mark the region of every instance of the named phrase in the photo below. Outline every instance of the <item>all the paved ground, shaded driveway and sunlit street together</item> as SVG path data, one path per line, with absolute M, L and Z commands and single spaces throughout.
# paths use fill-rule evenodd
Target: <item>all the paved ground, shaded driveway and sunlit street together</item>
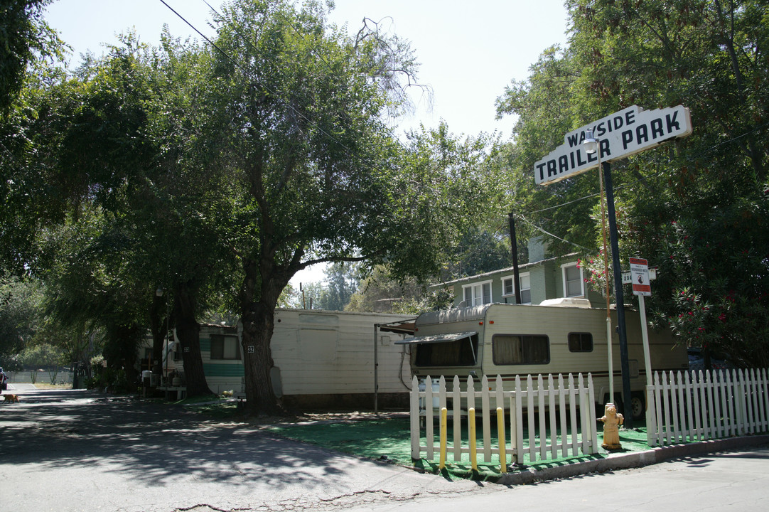
M 538 484 L 449 481 L 87 391 L 0 403 L 0 512 L 769 510 L 769 447 Z M 692 446 L 692 445 L 689 445 Z

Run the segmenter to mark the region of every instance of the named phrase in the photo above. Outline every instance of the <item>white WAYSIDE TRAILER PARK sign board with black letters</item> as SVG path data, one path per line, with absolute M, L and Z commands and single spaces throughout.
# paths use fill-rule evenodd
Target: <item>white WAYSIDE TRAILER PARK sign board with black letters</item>
M 675 137 L 691 134 L 689 109 L 644 110 L 638 105 L 607 115 L 564 136 L 564 144 L 534 164 L 534 181 L 549 185 L 598 166 L 598 153 L 588 155 L 582 142 L 593 131 L 600 146 L 601 162 L 623 159 Z

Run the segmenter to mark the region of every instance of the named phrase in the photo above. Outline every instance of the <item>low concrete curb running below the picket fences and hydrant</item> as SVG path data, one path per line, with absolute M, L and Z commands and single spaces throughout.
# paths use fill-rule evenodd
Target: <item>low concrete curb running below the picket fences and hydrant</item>
M 704 453 L 739 450 L 745 447 L 761 446 L 767 443 L 769 443 L 769 434 L 730 437 L 728 439 L 702 441 L 701 443 L 674 444 L 641 452 L 614 453 L 605 459 L 564 464 L 563 466 L 548 467 L 542 470 L 531 469 L 521 473 L 507 473 L 501 475 L 499 480 L 497 480 L 497 483 L 502 485 L 534 484 L 546 480 L 577 477 L 578 475 L 590 473 L 627 470 L 631 467 L 649 466 L 651 464 L 663 462 L 664 460 L 702 455 Z

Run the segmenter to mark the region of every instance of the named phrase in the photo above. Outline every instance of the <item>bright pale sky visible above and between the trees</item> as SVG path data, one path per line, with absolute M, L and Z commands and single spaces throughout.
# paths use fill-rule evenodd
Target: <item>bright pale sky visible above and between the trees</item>
M 203 0 L 165 0 L 205 35 L 210 10 Z M 208 0 L 215 8 L 220 0 Z M 512 79 L 528 78 L 529 66 L 550 45 L 566 42 L 564 0 L 336 0 L 331 21 L 357 32 L 364 17 L 380 21 L 411 41 L 421 63 L 418 78 L 433 90 L 432 108 L 416 96 L 417 111 L 402 119 L 400 129 L 434 127 L 443 119 L 456 134 L 500 132 L 508 138 L 514 119 L 494 120 L 494 100 Z M 135 28 L 149 44 L 160 40 L 164 23 L 171 35 L 199 36 L 160 0 L 55 0 L 48 24 L 72 46 L 72 63 L 88 50 L 103 52 L 102 43 Z M 314 270 L 314 271 L 313 271 Z M 323 278 L 322 269 L 305 270 L 292 283 Z

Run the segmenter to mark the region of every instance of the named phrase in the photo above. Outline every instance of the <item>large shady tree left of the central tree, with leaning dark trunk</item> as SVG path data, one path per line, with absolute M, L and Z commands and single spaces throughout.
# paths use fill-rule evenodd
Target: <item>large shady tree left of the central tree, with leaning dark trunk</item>
M 210 55 L 168 34 L 161 42 L 151 49 L 126 35 L 104 59 L 88 60 L 75 75 L 59 76 L 36 92 L 25 129 L 32 151 L 19 160 L 18 175 L 32 182 L 38 181 L 35 172 L 43 176 L 46 186 L 35 204 L 63 212 L 73 229 L 85 222 L 84 212 L 98 222 L 83 243 L 48 244 L 34 261 L 23 261 L 41 272 L 56 268 L 61 276 L 92 272 L 90 280 L 108 281 L 110 296 L 130 303 L 103 301 L 62 317 L 103 320 L 107 336 L 125 345 L 107 344 L 122 366 L 144 337 L 145 327 L 134 326 L 151 326 L 156 361 L 165 330 L 175 327 L 193 396 L 210 393 L 196 318 L 208 297 L 221 297 L 229 276 L 237 275 L 222 235 L 231 222 L 230 184 L 200 164 L 209 139 L 201 131 L 201 105 L 207 104 L 202 77 Z M 89 290 L 82 291 L 80 302 L 88 303 Z M 133 315 L 130 322 L 123 313 Z M 121 320 L 113 328 L 115 314 Z

